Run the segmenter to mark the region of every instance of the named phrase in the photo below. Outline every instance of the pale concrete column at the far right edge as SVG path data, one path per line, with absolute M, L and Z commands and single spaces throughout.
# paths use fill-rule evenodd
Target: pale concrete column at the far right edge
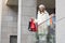
M 65 0 L 56 1 L 56 43 L 65 43 Z

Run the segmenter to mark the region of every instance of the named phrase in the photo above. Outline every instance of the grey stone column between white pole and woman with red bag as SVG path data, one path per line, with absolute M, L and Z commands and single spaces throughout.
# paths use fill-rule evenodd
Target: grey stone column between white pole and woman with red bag
M 30 17 L 36 17 L 37 0 L 21 1 L 21 43 L 35 43 L 35 32 L 28 31 Z

